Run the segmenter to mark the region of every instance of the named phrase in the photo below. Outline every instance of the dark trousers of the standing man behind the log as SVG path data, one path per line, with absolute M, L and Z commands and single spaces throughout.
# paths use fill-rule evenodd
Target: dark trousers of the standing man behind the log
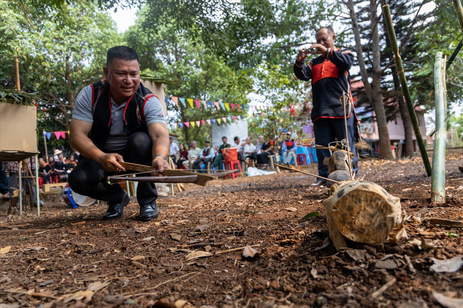
M 355 163 L 355 168 L 352 168 L 352 171 L 357 172 L 358 160 L 357 151 L 355 151 L 353 115 L 351 115 L 350 118 L 347 119 L 347 132 L 349 133 L 350 151 L 355 154 L 355 156 L 352 157 L 352 160 Z M 315 135 L 315 143 L 317 145 L 328 147 L 328 143 L 336 141 L 336 138 L 339 141 L 346 138 L 344 119 L 320 118 L 313 123 L 313 133 Z M 325 166 L 323 164 L 323 159 L 325 157 L 330 157 L 330 150 L 317 149 L 319 175 L 323 177 L 328 176 L 328 166 Z

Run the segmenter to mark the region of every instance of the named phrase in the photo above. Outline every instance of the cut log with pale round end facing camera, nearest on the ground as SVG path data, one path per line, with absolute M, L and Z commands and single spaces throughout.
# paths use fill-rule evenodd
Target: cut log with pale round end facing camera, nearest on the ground
M 323 201 L 330 237 L 336 249 L 346 247 L 344 237 L 374 244 L 388 236 L 399 239 L 407 233 L 400 198 L 368 181 L 347 181 Z

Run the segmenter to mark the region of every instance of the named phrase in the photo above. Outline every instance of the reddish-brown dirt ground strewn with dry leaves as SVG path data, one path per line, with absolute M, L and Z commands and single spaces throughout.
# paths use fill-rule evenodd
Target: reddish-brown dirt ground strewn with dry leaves
M 357 261 L 351 249 L 337 253 L 332 243 L 323 245 L 329 243 L 321 204 L 327 195 L 324 188 L 309 187 L 314 178 L 300 173 L 210 181 L 208 187 L 187 184 L 186 192 L 160 197 L 159 218 L 144 223 L 134 219 L 139 210 L 134 198 L 124 219 L 109 222 L 100 220 L 105 202 L 73 210 L 59 194 L 54 201 L 47 196 L 39 218 L 28 209 L 6 220 L 3 204 L 0 248 L 11 249 L 0 254 L 0 306 L 462 307 L 440 306 L 432 291 L 462 299 L 463 272 L 437 273 L 430 266 L 431 258 L 463 254 L 463 230 L 426 220 L 463 220 L 458 166 L 462 150 L 452 150 L 447 203 L 423 214 L 419 223 L 412 216 L 430 207 L 431 196 L 422 160 L 360 162 L 359 177 L 400 197 L 409 239 L 350 242 L 348 248 L 366 250 Z M 316 165 L 307 170 L 315 173 Z M 286 210 L 290 207 L 297 211 Z M 320 215 L 299 219 L 312 211 Z M 17 225 L 26 226 L 12 229 Z M 419 247 L 413 239 L 433 247 Z M 210 246 L 184 248 L 194 243 Z M 246 245 L 266 251 L 244 258 L 239 248 Z M 217 254 L 232 248 L 238 250 Z M 197 254 L 204 257 L 188 260 Z

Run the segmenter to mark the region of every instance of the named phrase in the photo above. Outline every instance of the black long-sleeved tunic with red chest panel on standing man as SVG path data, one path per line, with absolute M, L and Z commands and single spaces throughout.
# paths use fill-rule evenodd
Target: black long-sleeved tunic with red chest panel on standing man
M 325 56 L 310 60 L 307 65 L 294 64 L 294 74 L 300 80 L 312 79 L 313 109 L 312 122 L 319 118 L 344 119 L 344 109 L 339 97 L 346 92 L 349 103 L 347 117 L 355 116 L 350 93 L 349 69 L 354 63 L 354 54 L 349 49 L 328 48 Z M 357 118 L 357 117 L 356 117 Z

